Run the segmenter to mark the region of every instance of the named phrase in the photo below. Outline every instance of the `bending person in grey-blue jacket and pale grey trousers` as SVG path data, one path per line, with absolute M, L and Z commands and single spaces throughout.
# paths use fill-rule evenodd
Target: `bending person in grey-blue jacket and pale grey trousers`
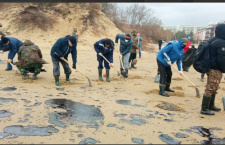
M 128 69 L 129 69 L 129 58 L 130 58 L 130 50 L 133 44 L 133 41 L 131 40 L 130 34 L 117 34 L 115 39 L 115 44 L 118 45 L 118 40 L 120 39 L 120 57 L 122 57 L 122 63 L 125 69 L 125 73 L 122 64 L 120 63 L 120 70 L 121 74 L 124 77 L 128 77 Z

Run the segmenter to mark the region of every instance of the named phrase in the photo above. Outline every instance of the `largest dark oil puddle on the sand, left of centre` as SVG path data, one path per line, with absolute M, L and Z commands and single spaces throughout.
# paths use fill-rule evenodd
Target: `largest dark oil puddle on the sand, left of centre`
M 49 113 L 49 123 L 55 124 L 56 126 L 65 128 L 68 124 L 88 123 L 91 128 L 96 128 L 97 130 L 100 126 L 99 123 L 103 124 L 104 115 L 94 105 L 85 105 L 67 99 L 51 99 L 47 100 L 45 104 L 53 108 L 66 110 L 66 112 Z

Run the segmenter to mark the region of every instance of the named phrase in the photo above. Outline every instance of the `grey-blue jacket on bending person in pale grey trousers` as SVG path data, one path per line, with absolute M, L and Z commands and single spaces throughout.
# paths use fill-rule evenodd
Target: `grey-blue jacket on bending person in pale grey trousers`
M 120 39 L 120 53 L 121 55 L 126 55 L 130 53 L 133 41 L 130 39 L 128 42 L 125 42 L 125 35 L 124 34 L 117 34 L 115 43 L 118 43 Z

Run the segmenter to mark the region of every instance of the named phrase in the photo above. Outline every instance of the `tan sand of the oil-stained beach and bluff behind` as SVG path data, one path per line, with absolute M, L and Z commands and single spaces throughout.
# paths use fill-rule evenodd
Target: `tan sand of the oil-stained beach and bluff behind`
M 75 10 L 73 12 L 70 9 L 71 14 L 67 17 L 72 19 L 70 22 L 59 17 L 53 29 L 47 31 L 33 29 L 17 32 L 18 28 L 13 27 L 11 19 L 19 9 L 20 7 L 13 7 L 0 12 L 3 26 L 11 25 L 8 28 L 11 32 L 10 36 L 22 41 L 30 39 L 35 42 L 49 64 L 43 67 L 47 72 L 42 72 L 38 76 L 39 79 L 35 81 L 22 80 L 20 74 L 16 74 L 15 71 L 6 72 L 4 71 L 6 64 L 0 64 L 0 143 L 164 144 L 160 137 L 167 134 L 175 139 L 172 143 L 180 141 L 182 144 L 199 144 L 203 143 L 202 140 L 208 140 L 207 136 L 203 135 L 207 135 L 207 129 L 212 131 L 213 138 L 225 137 L 224 111 L 216 113 L 215 116 L 204 116 L 199 113 L 206 82 L 200 81 L 200 74 L 193 67 L 184 74 L 198 86 L 201 98 L 195 96 L 195 89 L 175 70 L 173 70 L 171 87 L 176 92 L 170 93 L 170 97 L 158 95 L 158 83 L 154 83 L 157 74 L 155 59 L 157 45 L 151 45 L 155 47 L 154 53 L 143 52 L 143 57 L 136 65 L 137 69 L 129 70 L 129 78 L 125 81 L 114 70 L 110 71 L 110 83 L 98 81 L 98 62 L 93 44 L 105 37 L 114 40 L 117 33 L 122 33 L 101 12 L 98 19 L 104 24 L 102 33 L 96 34 L 89 27 L 90 29 L 79 37 L 77 46 L 77 69 L 91 79 L 93 87 L 88 85 L 85 77 L 74 70 L 71 75 L 73 82 L 67 83 L 62 67 L 60 76 L 62 86 L 56 87 L 52 76 L 50 49 L 59 37 L 71 34 L 74 26 L 78 27 L 79 35 L 82 29 L 79 14 L 84 12 L 76 10 L 75 13 Z M 119 71 L 118 56 L 118 52 L 115 51 L 114 66 Z M 0 59 L 6 63 L 7 53 L 1 55 Z M 69 61 L 72 62 L 72 59 L 69 58 Z M 8 91 L 4 90 L 7 87 L 11 88 L 8 88 Z M 222 80 L 216 98 L 216 105 L 221 108 L 223 107 L 221 98 L 224 93 L 225 81 Z M 52 107 L 46 103 L 52 99 L 64 100 L 55 101 L 61 107 L 57 105 Z M 73 104 L 69 103 L 71 101 L 75 105 L 71 105 Z M 162 102 L 175 105 L 170 107 L 174 111 L 157 107 L 162 106 Z M 65 110 L 67 107 L 69 111 Z M 13 114 L 2 117 L 7 112 Z M 30 129 L 32 126 L 50 126 L 54 129 L 48 129 L 46 132 L 42 130 L 40 133 L 41 131 Z M 194 126 L 202 126 L 206 130 Z M 31 136 L 35 132 L 38 132 L 38 135 Z M 178 138 L 175 136 L 178 132 L 186 136 Z

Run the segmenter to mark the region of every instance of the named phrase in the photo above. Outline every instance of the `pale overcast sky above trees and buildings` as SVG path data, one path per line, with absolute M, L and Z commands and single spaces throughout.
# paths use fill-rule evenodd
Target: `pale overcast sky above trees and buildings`
M 133 3 L 119 3 L 129 6 Z M 152 8 L 163 25 L 208 25 L 225 21 L 225 3 L 139 3 Z

